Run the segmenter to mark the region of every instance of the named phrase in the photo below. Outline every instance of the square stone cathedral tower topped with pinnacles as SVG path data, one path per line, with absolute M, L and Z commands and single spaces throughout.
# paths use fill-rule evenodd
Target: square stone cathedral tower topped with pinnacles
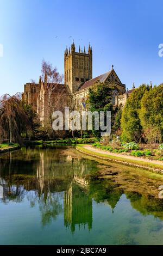
M 80 50 L 76 52 L 74 42 L 71 45 L 71 50 L 66 47 L 64 58 L 64 78 L 67 84 L 74 93 L 78 90 L 80 85 L 92 79 L 92 48 L 89 45 L 86 53 Z

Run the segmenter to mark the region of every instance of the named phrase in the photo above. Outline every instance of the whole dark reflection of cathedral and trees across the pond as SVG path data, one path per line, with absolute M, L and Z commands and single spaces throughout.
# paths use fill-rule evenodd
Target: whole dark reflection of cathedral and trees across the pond
M 142 175 L 139 179 L 130 172 L 101 166 L 105 168 L 101 173 L 105 175 L 106 170 L 108 176 L 99 179 L 99 163 L 83 159 L 70 148 L 22 149 L 21 157 L 14 152 L 5 157 L 0 157 L 0 202 L 28 200 L 31 207 L 39 206 L 42 225 L 61 217 L 72 233 L 77 228 L 90 230 L 93 200 L 103 202 L 114 212 L 122 194 L 126 194 L 134 209 L 163 220 L 163 201 L 156 197 L 156 181 L 150 180 L 151 196 L 145 186 L 149 178 L 142 179 Z M 21 171 L 24 163 L 26 167 L 22 165 Z

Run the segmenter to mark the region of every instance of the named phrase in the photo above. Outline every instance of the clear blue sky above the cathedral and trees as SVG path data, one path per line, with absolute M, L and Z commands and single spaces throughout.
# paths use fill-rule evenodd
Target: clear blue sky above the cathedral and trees
M 64 50 L 91 43 L 93 77 L 114 69 L 127 88 L 163 82 L 162 0 L 0 0 L 0 95 L 39 81 L 41 61 L 64 73 Z

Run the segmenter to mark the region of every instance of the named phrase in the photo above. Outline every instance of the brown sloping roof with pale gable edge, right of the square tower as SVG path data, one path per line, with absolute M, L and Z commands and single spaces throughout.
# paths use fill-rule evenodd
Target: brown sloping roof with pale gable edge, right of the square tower
M 115 70 L 111 69 L 110 71 L 106 72 L 105 74 L 102 74 L 100 76 L 97 76 L 97 77 L 85 82 L 81 87 L 79 87 L 78 91 L 89 88 L 90 86 L 93 86 L 93 84 L 95 84 L 97 81 L 99 81 L 101 83 L 105 82 L 107 80 L 107 78 L 111 75 L 112 72 L 114 72 L 114 74 L 116 75 L 117 80 L 118 80 L 117 82 L 120 83 L 122 86 L 124 86 L 124 84 L 122 84 L 120 79 L 118 78 Z

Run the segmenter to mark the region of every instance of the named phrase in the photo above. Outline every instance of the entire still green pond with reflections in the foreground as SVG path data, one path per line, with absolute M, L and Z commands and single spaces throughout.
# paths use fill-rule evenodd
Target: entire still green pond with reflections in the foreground
M 73 147 L 0 156 L 1 245 L 163 245 L 163 175 Z

